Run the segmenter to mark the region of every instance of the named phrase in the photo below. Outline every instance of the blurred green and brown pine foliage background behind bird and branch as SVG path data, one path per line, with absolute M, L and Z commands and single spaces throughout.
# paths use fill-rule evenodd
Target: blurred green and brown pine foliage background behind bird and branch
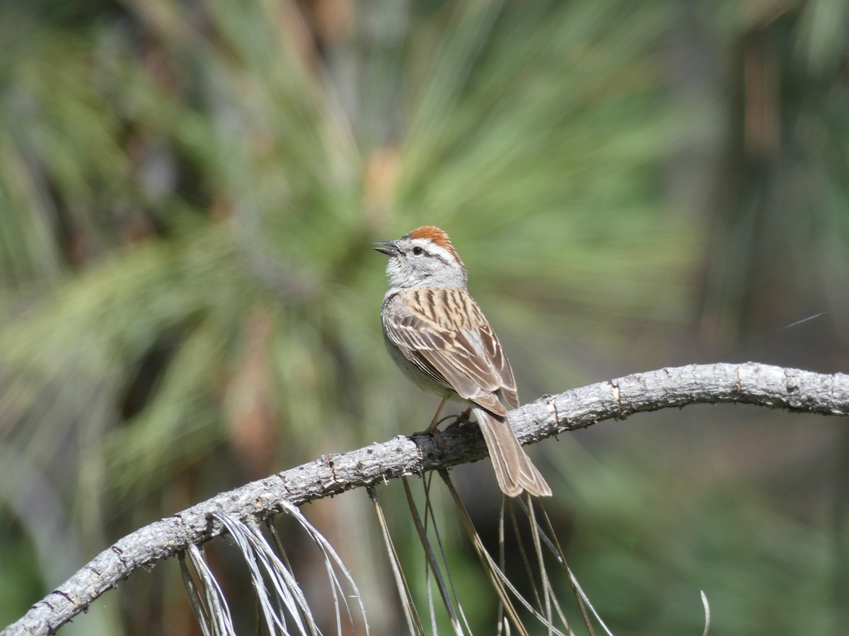
M 424 428 L 370 249 L 416 226 L 451 234 L 522 401 L 668 365 L 846 371 L 846 0 L 31 0 L 0 3 L 0 50 L 0 625 L 137 527 Z M 845 633 L 845 420 L 689 407 L 531 455 L 615 633 L 701 633 L 701 589 L 711 633 Z M 452 474 L 492 527 L 488 462 Z M 420 581 L 402 488 L 379 493 Z M 364 490 L 304 510 L 373 633 L 404 631 Z M 182 586 L 137 572 L 62 633 L 197 633 Z

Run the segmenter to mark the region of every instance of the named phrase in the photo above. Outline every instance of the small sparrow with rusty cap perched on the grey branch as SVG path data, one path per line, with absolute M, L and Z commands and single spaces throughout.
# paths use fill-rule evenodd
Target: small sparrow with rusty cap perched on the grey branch
M 513 370 L 466 290 L 466 268 L 451 239 L 438 227 L 424 226 L 376 244 L 381 247 L 374 249 L 389 256 L 390 289 L 380 307 L 386 349 L 413 384 L 442 398 L 428 432 L 436 431 L 448 399 L 469 404 L 503 493 L 550 495 L 507 421 L 499 397 L 519 406 Z

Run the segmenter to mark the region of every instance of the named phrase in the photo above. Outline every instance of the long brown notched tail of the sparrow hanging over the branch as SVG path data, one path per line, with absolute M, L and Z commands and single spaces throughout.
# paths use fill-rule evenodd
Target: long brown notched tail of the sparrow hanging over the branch
M 508 497 L 516 497 L 522 491 L 537 497 L 550 496 L 551 488 L 527 456 L 509 422 L 480 407 L 473 409 L 502 492 Z

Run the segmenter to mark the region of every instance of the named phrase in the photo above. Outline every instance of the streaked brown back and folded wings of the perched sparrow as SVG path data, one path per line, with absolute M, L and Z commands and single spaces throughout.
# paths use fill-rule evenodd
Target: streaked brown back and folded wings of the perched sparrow
M 494 395 L 501 390 L 511 406 L 518 406 L 513 371 L 498 338 L 475 301 L 460 289 L 425 287 L 399 292 L 400 311 L 385 324 L 387 337 L 409 360 L 432 371 L 464 399 L 503 414 Z M 452 315 L 463 316 L 456 329 Z M 413 360 L 417 358 L 418 360 Z M 424 369 L 431 377 L 430 370 Z

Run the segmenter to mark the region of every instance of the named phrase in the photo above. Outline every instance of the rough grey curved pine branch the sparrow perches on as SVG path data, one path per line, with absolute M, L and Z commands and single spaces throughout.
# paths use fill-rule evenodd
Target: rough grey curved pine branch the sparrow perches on
M 687 404 L 739 402 L 798 413 L 845 416 L 849 376 L 746 363 L 689 365 L 638 373 L 553 396 L 543 396 L 509 414 L 524 442 L 588 427 L 597 421 Z M 481 435 L 469 427 L 442 433 L 444 449 L 427 435 L 398 436 L 383 444 L 341 455 L 324 455 L 289 471 L 236 488 L 151 523 L 104 550 L 0 636 L 48 634 L 69 622 L 93 600 L 139 566 L 150 566 L 222 533 L 211 512 L 243 520 L 281 511 L 280 501 L 301 505 L 351 488 L 456 466 L 486 456 Z

